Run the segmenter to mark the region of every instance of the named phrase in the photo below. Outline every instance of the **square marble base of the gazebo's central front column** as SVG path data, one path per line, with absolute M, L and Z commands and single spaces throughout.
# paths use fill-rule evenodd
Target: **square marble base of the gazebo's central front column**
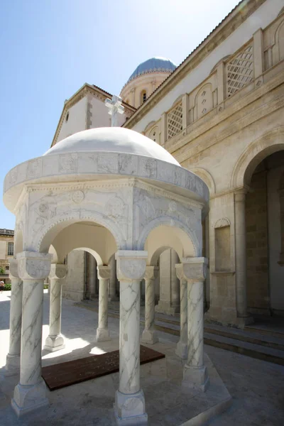
M 129 394 L 116 391 L 114 416 L 118 426 L 148 425 L 143 391 Z

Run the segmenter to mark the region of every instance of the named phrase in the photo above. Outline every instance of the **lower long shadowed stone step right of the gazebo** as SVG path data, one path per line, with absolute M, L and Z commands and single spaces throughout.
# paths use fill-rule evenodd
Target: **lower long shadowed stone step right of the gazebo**
M 242 342 L 229 337 L 218 336 L 217 334 L 204 333 L 204 344 L 236 352 L 237 354 L 251 356 L 251 358 L 262 359 L 284 366 L 284 351 L 268 348 L 259 344 Z

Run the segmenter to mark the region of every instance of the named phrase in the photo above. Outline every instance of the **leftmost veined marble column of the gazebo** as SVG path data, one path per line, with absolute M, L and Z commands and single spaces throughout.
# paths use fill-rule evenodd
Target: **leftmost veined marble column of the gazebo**
M 16 259 L 10 260 L 10 279 L 10 340 L 9 354 L 6 356 L 5 376 L 20 372 L 23 282 L 18 277 L 18 262 Z

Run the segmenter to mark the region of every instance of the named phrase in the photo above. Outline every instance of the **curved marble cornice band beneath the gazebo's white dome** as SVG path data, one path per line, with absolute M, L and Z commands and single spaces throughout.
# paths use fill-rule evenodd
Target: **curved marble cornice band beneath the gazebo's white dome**
M 35 183 L 57 187 L 58 181 L 77 185 L 86 180 L 133 180 L 135 177 L 164 189 L 176 187 L 181 195 L 197 202 L 209 199 L 204 182 L 179 165 L 129 153 L 83 151 L 43 155 L 17 165 L 4 180 L 4 202 L 13 211 L 23 187 Z

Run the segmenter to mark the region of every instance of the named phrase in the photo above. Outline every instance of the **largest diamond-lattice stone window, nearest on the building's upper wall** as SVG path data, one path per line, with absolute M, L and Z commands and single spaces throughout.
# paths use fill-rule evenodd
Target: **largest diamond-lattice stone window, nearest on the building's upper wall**
M 226 63 L 226 94 L 230 97 L 253 80 L 253 44 Z

